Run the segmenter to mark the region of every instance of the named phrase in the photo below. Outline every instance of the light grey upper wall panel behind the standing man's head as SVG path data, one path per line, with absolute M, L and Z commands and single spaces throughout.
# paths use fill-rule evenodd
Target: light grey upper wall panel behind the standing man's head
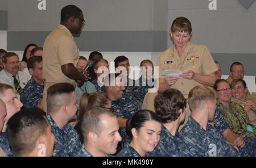
M 159 2 L 159 3 L 157 3 Z M 73 4 L 84 12 L 84 31 L 166 30 L 167 0 L 9 0 L 10 31 L 51 31 L 60 22 L 60 11 Z

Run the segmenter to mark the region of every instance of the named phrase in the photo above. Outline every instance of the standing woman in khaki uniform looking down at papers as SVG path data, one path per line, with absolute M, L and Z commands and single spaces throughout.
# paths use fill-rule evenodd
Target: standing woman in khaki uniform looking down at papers
M 172 22 L 170 37 L 174 45 L 160 53 L 156 64 L 159 66 L 160 93 L 171 87 L 180 90 L 184 97 L 188 98 L 188 93 L 193 87 L 214 85 L 214 72 L 218 70 L 217 66 L 208 48 L 204 45 L 191 43 L 189 41 L 191 36 L 192 26 L 187 18 L 179 17 Z M 182 71 L 182 73 L 162 76 L 164 70 L 176 70 Z M 186 112 L 188 115 L 190 114 L 189 110 Z

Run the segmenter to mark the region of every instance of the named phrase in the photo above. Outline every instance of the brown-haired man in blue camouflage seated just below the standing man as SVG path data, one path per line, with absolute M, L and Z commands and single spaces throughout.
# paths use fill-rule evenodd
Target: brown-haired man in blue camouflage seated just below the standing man
M 81 149 L 79 135 L 68 123 L 76 118 L 77 107 L 75 88 L 70 83 L 56 83 L 47 90 L 46 117 L 55 136 L 53 156 L 76 156 Z

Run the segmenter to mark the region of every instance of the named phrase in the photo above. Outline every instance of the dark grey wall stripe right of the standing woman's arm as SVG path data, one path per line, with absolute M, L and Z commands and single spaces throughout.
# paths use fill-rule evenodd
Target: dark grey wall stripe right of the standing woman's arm
M 241 62 L 245 68 L 245 75 L 256 75 L 256 53 L 212 53 L 212 57 L 220 62 L 222 74 L 229 74 L 233 62 Z

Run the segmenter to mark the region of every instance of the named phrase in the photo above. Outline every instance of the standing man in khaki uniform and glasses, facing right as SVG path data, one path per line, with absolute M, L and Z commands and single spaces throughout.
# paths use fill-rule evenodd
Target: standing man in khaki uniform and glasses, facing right
M 85 77 L 76 68 L 79 49 L 73 35 L 79 36 L 84 26 L 84 14 L 75 5 L 68 5 L 61 10 L 60 24 L 46 37 L 43 52 L 43 74 L 46 79 L 43 102 L 46 107 L 47 89 L 59 82 L 82 86 Z M 73 35 L 72 35 L 73 34 Z

